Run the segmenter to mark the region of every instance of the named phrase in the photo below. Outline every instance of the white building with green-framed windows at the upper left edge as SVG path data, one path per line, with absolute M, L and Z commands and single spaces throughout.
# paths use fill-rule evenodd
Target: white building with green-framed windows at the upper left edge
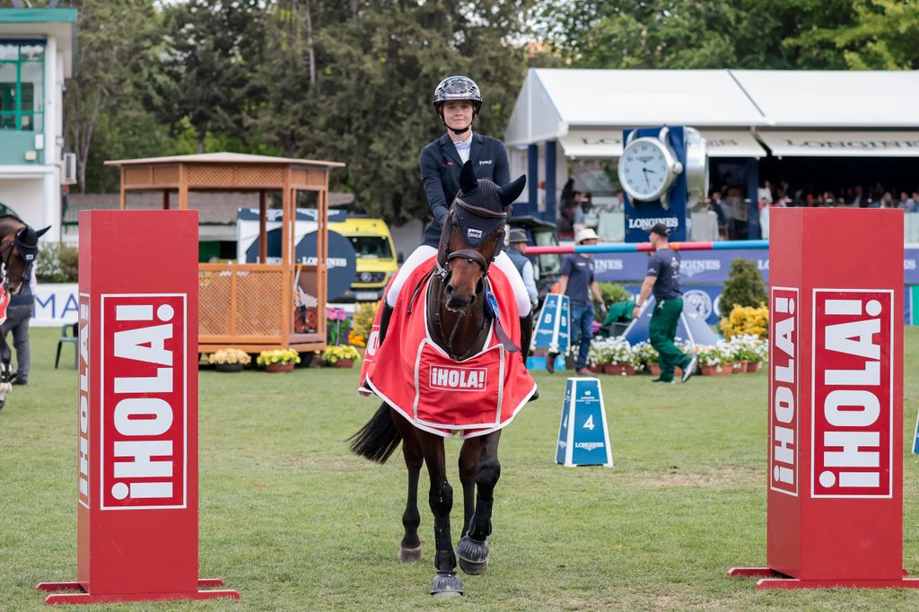
M 73 74 L 75 8 L 0 9 L 0 204 L 61 232 L 62 93 Z

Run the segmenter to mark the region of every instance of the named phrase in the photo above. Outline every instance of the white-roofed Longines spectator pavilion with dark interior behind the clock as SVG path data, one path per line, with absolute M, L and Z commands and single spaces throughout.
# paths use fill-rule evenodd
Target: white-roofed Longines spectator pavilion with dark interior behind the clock
M 554 221 L 569 176 L 618 190 L 624 129 L 686 125 L 708 139 L 711 179 L 731 177 L 756 238 L 765 180 L 919 190 L 917 99 L 919 71 L 530 69 L 505 131 L 511 176 L 528 175 L 515 211 Z

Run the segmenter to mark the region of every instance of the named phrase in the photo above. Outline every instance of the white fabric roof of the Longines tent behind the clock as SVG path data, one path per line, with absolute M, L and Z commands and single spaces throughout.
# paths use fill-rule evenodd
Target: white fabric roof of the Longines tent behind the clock
M 568 156 L 618 156 L 623 128 L 670 124 L 717 135 L 721 155 L 757 157 L 765 152 L 752 135 L 766 142 L 769 129 L 837 128 L 846 132 L 835 136 L 852 140 L 852 130 L 919 128 L 916 100 L 919 72 L 534 68 L 505 143 L 558 140 Z

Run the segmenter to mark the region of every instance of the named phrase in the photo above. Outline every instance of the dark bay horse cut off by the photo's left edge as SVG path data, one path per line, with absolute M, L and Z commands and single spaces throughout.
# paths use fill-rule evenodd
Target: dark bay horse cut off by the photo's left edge
M 22 290 L 26 270 L 38 255 L 40 236 L 49 229 L 36 232 L 18 217 L 0 215 L 0 310 L 3 317 L 6 317 L 9 297 Z M 6 405 L 6 393 L 12 390 L 11 359 L 6 334 L 0 334 L 0 408 Z

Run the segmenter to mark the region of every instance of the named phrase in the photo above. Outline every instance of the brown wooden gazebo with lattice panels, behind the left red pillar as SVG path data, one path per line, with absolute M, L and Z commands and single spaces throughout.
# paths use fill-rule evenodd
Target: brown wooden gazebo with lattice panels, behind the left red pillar
M 202 153 L 106 162 L 121 171 L 120 208 L 129 191 L 162 191 L 163 208 L 177 192 L 179 210 L 190 191 L 257 191 L 259 254 L 255 264 L 199 264 L 199 350 L 225 347 L 255 353 L 270 348 L 325 346 L 329 171 L 345 164 L 243 153 Z M 267 258 L 267 194 L 282 202 L 281 256 Z M 296 261 L 298 191 L 316 192 L 316 265 Z M 298 290 L 299 289 L 299 290 Z

